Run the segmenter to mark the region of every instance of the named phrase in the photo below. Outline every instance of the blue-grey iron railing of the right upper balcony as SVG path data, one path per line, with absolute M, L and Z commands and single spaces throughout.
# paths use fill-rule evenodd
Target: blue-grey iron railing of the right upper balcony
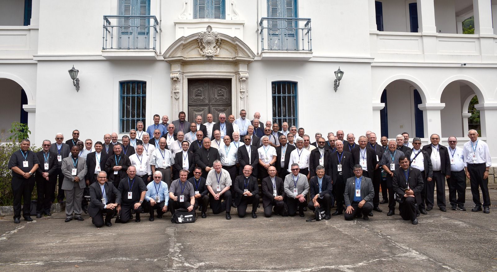
M 312 51 L 310 18 L 262 17 L 259 27 L 262 51 Z

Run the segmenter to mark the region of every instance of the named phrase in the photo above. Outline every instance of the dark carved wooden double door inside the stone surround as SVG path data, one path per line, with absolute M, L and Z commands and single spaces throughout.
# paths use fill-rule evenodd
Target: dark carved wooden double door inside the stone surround
M 195 122 L 200 115 L 205 123 L 209 113 L 215 123 L 220 113 L 225 113 L 226 119 L 232 114 L 231 79 L 188 79 L 188 121 Z

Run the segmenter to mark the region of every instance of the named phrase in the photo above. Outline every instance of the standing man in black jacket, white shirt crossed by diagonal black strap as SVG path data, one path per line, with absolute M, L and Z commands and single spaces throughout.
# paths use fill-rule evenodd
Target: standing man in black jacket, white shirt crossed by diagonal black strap
M 411 167 L 421 171 L 423 183 L 426 185 L 428 182 L 431 182 L 431 179 L 433 177 L 433 168 L 431 166 L 430 155 L 428 154 L 428 152 L 421 149 L 421 139 L 419 137 L 413 138 L 413 146 L 413 149 L 409 149 L 406 151 L 406 157 L 409 159 L 409 164 L 411 165 Z M 419 203 L 419 212 L 421 212 L 422 214 L 426 214 L 426 208 L 424 205 L 425 197 L 426 186 L 423 186 L 423 190 L 420 194 L 421 200 Z

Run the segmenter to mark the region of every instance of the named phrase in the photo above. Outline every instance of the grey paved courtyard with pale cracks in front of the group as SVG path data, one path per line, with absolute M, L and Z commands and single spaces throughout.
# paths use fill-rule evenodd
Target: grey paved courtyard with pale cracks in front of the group
M 380 207 L 357 218 L 306 222 L 306 217 L 226 220 L 208 213 L 193 224 L 154 222 L 95 228 L 64 222 L 65 214 L 14 224 L 0 219 L 0 271 L 497 271 L 497 190 L 491 213 L 433 209 L 412 225 Z M 450 205 L 449 205 L 450 207 Z M 232 212 L 232 215 L 235 212 Z

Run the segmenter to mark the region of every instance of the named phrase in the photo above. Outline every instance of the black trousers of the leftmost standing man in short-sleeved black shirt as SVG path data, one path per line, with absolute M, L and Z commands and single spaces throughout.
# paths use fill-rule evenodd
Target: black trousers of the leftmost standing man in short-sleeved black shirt
M 24 218 L 31 216 L 31 192 L 33 192 L 34 183 L 34 177 L 25 179 L 12 176 L 11 186 L 14 196 L 14 219 L 21 218 L 21 200 L 24 200 L 22 216 Z

